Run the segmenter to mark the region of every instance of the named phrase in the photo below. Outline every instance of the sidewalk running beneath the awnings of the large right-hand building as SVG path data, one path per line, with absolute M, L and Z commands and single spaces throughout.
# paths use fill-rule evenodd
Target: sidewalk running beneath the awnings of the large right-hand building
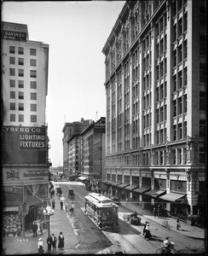
M 176 230 L 176 218 L 164 218 L 164 217 L 153 217 L 153 213 L 149 209 L 142 209 L 142 207 L 139 206 L 139 204 L 136 205 L 134 202 L 129 201 L 121 201 L 121 206 L 128 209 L 130 212 L 136 211 L 139 215 L 142 215 L 142 222 L 145 221 L 153 221 L 158 224 L 163 224 L 165 220 L 168 220 L 168 223 L 170 224 L 170 230 L 179 232 L 184 236 L 189 236 L 194 239 L 200 239 L 205 240 L 205 229 L 200 229 L 196 226 L 188 225 L 184 222 L 180 222 L 181 228 L 180 230 Z M 164 228 L 165 229 L 165 228 Z

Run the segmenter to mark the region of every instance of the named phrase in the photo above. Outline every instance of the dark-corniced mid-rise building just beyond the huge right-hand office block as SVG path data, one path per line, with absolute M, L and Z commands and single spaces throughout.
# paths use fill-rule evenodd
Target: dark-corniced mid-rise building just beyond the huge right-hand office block
M 90 180 L 101 181 L 106 154 L 106 118 L 92 122 L 81 133 L 82 174 Z M 100 186 L 99 186 L 100 187 Z

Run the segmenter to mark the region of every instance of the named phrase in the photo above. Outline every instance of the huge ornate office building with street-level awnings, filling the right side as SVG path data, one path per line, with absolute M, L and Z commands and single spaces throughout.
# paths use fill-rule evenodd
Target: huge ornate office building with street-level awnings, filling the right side
M 205 1 L 127 1 L 106 56 L 106 179 L 205 221 Z

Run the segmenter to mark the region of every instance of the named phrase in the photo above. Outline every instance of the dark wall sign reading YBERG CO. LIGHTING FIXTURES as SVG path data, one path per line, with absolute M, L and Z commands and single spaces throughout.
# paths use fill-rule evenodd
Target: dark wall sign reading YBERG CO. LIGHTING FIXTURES
M 46 126 L 3 126 L 3 163 L 46 163 Z

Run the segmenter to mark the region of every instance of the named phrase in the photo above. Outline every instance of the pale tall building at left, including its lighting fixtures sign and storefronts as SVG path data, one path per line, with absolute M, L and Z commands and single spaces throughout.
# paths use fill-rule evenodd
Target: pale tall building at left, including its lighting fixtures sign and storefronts
M 2 22 L 4 236 L 25 236 L 49 199 L 48 63 L 49 44 L 29 40 L 24 24 Z

